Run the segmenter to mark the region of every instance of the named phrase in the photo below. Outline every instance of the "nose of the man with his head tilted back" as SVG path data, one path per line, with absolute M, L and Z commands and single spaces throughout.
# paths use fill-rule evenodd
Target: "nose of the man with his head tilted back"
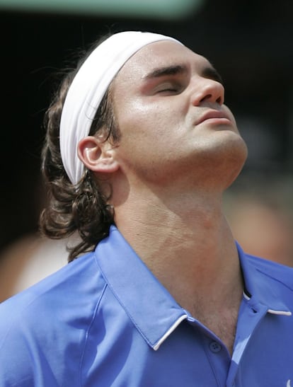
M 197 78 L 193 86 L 191 103 L 195 106 L 204 102 L 224 103 L 224 86 L 214 79 Z

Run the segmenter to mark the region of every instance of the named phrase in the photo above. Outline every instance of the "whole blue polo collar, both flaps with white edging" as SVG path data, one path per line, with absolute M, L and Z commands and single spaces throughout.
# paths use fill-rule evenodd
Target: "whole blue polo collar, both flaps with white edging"
M 280 287 L 261 270 L 263 260 L 250 259 L 238 244 L 237 248 L 246 298 L 255 306 L 266 306 L 268 313 L 290 316 L 282 302 Z M 120 305 L 154 350 L 188 318 L 187 312 L 154 277 L 115 226 L 111 226 L 109 236 L 98 243 L 96 260 Z

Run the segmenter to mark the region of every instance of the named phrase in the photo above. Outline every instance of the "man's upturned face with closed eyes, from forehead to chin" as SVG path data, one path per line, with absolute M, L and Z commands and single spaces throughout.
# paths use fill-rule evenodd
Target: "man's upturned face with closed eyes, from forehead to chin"
M 115 78 L 113 104 L 121 132 L 116 158 L 128 175 L 164 184 L 202 178 L 230 159 L 238 171 L 243 165 L 246 146 L 220 77 L 183 45 L 155 42 L 134 54 Z

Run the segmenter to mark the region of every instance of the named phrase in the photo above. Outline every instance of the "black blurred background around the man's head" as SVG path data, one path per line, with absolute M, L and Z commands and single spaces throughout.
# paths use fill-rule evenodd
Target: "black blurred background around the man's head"
M 38 229 L 44 197 L 42 119 L 58 73 L 69 66 L 76 50 L 87 49 L 109 30 L 173 35 L 207 57 L 222 74 L 226 103 L 248 143 L 243 176 L 261 177 L 267 183 L 281 175 L 291 178 L 293 1 L 191 0 L 173 13 L 171 0 L 165 11 L 154 11 L 160 0 L 146 0 L 152 7 L 149 13 L 136 8 L 133 0 L 130 8 L 131 1 L 121 0 L 120 6 L 125 4 L 121 12 L 118 8 L 58 11 L 54 7 L 32 11 L 4 3 L 0 1 L 0 250 Z M 184 3 L 178 0 L 179 5 Z M 84 3 L 80 0 L 79 4 Z

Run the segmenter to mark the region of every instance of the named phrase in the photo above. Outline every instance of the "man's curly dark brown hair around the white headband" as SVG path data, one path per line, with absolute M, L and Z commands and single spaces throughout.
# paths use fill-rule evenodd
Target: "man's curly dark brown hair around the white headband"
M 42 175 L 49 203 L 40 215 L 40 231 L 52 239 L 65 238 L 78 231 L 81 242 L 67 248 L 69 262 L 81 253 L 93 250 L 101 239 L 108 236 L 110 225 L 114 223 L 113 208 L 108 204 L 109 197 L 105 197 L 96 176 L 86 170 L 79 183 L 73 185 L 64 170 L 60 154 L 59 124 L 64 100 L 84 60 L 64 78 L 45 114 L 47 134 L 42 149 Z M 105 141 L 111 141 L 112 144 L 120 139 L 113 112 L 111 85 L 98 107 L 89 134 L 95 135 L 98 132 L 102 132 Z

